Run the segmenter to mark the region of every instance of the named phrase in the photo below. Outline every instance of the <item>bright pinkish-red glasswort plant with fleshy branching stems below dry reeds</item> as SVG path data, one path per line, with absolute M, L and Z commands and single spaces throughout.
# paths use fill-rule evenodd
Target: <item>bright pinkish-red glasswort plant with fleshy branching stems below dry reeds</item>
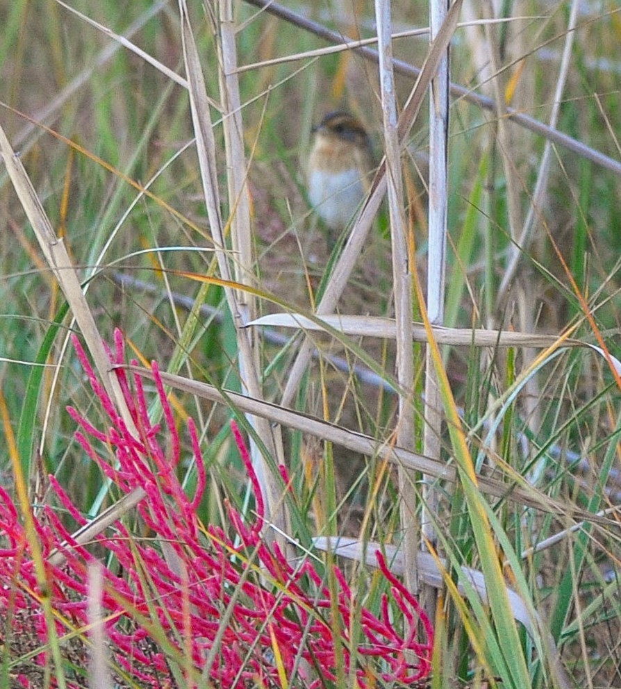
M 185 495 L 179 483 L 176 469 L 181 443 L 157 365 L 153 364 L 153 374 L 163 407 L 162 426 L 149 420 L 140 376 L 133 376 L 132 393 L 126 372 L 117 369 L 140 435 L 135 438 L 97 380 L 77 338 L 74 346 L 110 419 L 110 429 L 100 431 L 68 408 L 81 428 L 76 440 L 121 492 L 139 486 L 144 489 L 146 497 L 137 509 L 151 538 L 143 542 L 116 522 L 87 548 L 72 539 L 51 506 L 38 516 L 36 528 L 44 556 L 62 551 L 65 558 L 62 566 L 48 563 L 48 581 L 56 633 L 63 640 L 68 664 L 82 668 L 88 664 L 84 637 L 72 632 L 89 624 L 88 565 L 96 554 L 101 558 L 106 552 L 101 606 L 117 686 L 180 686 L 181 676 L 188 687 L 285 689 L 293 684 L 315 689 L 336 680 L 339 662 L 342 672 L 355 672 L 363 689 L 377 681 L 413 683 L 429 674 L 431 624 L 381 554 L 377 554 L 379 568 L 390 584 L 390 594 L 383 595 L 379 615 L 366 608 L 358 613 L 360 640 L 356 653 L 351 654 L 349 633 L 356 604 L 345 576 L 333 567 L 336 586 L 329 588 L 310 559 L 294 568 L 278 545 L 267 545 L 262 539 L 260 529 L 267 515 L 237 426 L 232 424 L 233 434 L 254 489 L 258 516 L 245 520 L 227 506 L 231 522 L 231 533 L 227 533 L 219 526 L 204 528 L 196 515 L 206 475 L 191 419 L 188 433 L 198 476 L 194 497 Z M 124 363 L 118 332 L 110 359 L 115 365 Z M 113 448 L 114 464 L 109 453 L 106 456 L 94 448 L 97 443 Z M 167 451 L 164 445 L 169 447 Z M 85 523 L 58 481 L 53 476 L 50 481 L 60 505 L 78 524 Z M 28 651 L 34 658 L 34 663 L 24 661 L 10 668 L 10 673 L 15 686 L 38 688 L 42 669 L 49 662 L 44 651 L 49 635 L 30 546 L 17 509 L 1 487 L 0 529 L 0 615 L 5 620 L 5 649 L 11 649 L 10 660 Z M 158 542 L 167 544 L 166 557 Z M 406 633 L 398 631 L 395 619 L 401 619 Z M 419 626 L 424 629 L 424 642 L 416 636 Z M 80 676 L 75 670 L 68 680 L 71 687 L 87 682 L 85 674 Z

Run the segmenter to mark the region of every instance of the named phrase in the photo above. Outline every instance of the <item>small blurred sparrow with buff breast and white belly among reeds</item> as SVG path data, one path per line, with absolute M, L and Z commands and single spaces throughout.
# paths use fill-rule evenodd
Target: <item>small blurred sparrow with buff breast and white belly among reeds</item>
M 375 167 L 369 135 L 349 113 L 329 113 L 313 127 L 308 199 L 331 233 L 341 232 L 354 218 Z

